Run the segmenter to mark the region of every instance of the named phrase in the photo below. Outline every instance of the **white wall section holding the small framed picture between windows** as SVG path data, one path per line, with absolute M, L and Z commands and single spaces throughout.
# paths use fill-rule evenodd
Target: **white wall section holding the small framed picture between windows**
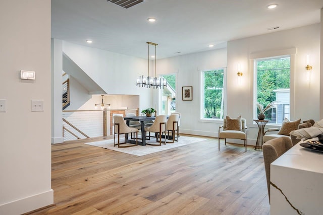
M 227 49 L 199 52 L 157 60 L 158 74 L 177 73 L 176 112 L 181 113 L 180 131 L 188 134 L 216 136 L 218 123 L 200 120 L 200 70 L 227 66 Z M 182 87 L 192 86 L 192 101 L 182 100 Z

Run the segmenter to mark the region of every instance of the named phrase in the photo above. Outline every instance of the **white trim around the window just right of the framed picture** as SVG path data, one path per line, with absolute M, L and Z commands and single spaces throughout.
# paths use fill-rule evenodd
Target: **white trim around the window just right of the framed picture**
M 223 116 L 226 116 L 227 114 L 227 67 L 218 67 L 218 68 L 211 68 L 211 69 L 199 69 L 198 73 L 199 73 L 199 95 L 200 95 L 200 108 L 199 108 L 199 120 L 198 122 L 206 122 L 206 123 L 223 123 L 223 119 L 206 119 L 203 118 L 203 109 L 204 109 L 204 95 L 203 95 L 203 89 L 202 86 L 204 86 L 203 84 L 203 72 L 204 71 L 212 71 L 212 70 L 219 70 L 219 69 L 223 69 L 223 88 L 224 88 L 224 98 L 223 98 Z

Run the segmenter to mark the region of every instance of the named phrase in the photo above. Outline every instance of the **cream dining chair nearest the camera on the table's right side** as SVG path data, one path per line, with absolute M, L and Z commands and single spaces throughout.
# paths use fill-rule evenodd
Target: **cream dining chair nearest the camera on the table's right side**
M 150 136 L 150 132 L 154 132 L 155 133 L 155 137 L 156 137 L 156 142 L 158 142 L 158 135 L 159 135 L 159 145 L 156 144 L 150 144 L 150 143 L 146 143 L 146 145 L 151 145 L 151 146 L 161 146 L 161 137 L 163 135 L 163 133 L 165 134 L 165 142 L 164 144 L 166 145 L 166 122 L 167 122 L 167 116 L 166 115 L 158 115 L 155 118 L 155 121 L 153 122 L 153 124 L 149 127 L 145 127 L 145 132 L 149 132 L 149 138 Z M 147 135 L 145 135 L 147 136 Z

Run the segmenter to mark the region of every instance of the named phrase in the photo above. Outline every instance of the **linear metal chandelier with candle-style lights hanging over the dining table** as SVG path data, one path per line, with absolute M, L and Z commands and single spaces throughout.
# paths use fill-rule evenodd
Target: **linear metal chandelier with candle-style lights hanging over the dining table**
M 157 88 L 163 88 L 166 87 L 166 80 L 164 79 L 164 77 L 157 77 L 156 76 L 156 60 L 157 60 L 157 57 L 156 57 L 156 46 L 158 44 L 156 43 L 153 43 L 153 42 L 147 42 L 148 44 L 148 76 L 147 77 L 144 77 L 143 75 L 142 76 L 139 76 L 137 78 L 137 86 L 139 87 L 146 87 L 146 88 L 151 88 L 153 87 L 154 89 L 157 89 Z M 149 76 L 149 45 L 153 45 L 155 46 L 155 76 L 152 78 Z

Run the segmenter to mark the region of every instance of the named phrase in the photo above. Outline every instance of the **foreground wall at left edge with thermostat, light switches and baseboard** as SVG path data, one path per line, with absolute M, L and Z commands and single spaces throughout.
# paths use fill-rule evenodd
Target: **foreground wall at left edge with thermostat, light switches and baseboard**
M 53 203 L 50 145 L 50 1 L 0 1 L 0 214 Z M 19 71 L 36 71 L 20 80 Z M 31 112 L 31 100 L 44 111 Z

